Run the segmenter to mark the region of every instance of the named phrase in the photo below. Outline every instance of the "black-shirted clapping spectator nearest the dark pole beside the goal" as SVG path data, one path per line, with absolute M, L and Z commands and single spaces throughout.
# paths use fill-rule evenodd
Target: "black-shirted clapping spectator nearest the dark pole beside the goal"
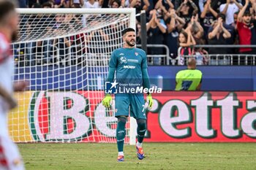
M 166 26 L 160 23 L 161 17 L 157 17 L 157 10 L 151 10 L 151 20 L 146 23 L 146 30 L 148 34 L 148 44 L 162 45 L 164 34 L 166 33 Z M 159 55 L 163 53 L 161 48 L 154 48 L 154 50 L 148 50 L 151 55 Z M 161 58 L 154 58 L 154 64 L 161 64 Z

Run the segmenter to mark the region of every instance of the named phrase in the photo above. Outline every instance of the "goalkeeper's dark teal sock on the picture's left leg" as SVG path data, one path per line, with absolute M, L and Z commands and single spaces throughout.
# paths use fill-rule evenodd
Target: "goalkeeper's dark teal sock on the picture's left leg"
M 124 151 L 124 137 L 125 137 L 125 124 L 127 123 L 126 117 L 118 117 L 116 128 L 116 141 L 118 152 Z

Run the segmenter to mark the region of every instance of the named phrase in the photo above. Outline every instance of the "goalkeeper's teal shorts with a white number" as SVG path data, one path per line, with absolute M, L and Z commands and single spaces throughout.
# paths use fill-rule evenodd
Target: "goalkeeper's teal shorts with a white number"
M 115 116 L 130 116 L 135 119 L 146 119 L 145 101 L 142 93 L 117 93 L 115 96 Z

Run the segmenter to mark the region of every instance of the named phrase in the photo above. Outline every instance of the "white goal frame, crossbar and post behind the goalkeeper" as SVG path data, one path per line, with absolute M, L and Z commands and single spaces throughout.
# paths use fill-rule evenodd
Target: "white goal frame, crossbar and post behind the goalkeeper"
M 136 12 L 135 8 L 63 8 L 63 9 L 43 9 L 43 8 L 17 8 L 18 14 L 129 14 L 129 27 L 136 30 Z M 133 117 L 130 117 L 129 121 L 129 144 L 134 145 L 136 143 L 136 128 L 137 123 Z

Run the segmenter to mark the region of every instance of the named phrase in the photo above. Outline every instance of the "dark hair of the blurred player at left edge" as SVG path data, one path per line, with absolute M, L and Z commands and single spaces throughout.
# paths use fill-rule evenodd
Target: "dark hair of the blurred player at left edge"
M 6 20 L 6 16 L 15 11 L 17 1 L 13 0 L 0 0 L 0 23 Z

